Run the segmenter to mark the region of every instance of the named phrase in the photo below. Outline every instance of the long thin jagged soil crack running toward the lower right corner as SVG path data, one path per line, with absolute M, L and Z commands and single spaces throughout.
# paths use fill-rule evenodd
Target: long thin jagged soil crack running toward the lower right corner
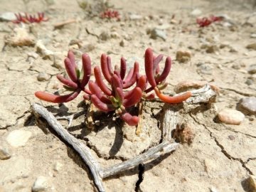
M 220 147 L 221 152 L 222 152 L 228 159 L 230 159 L 230 160 L 235 160 L 235 161 L 239 161 L 240 164 L 242 165 L 242 167 L 243 167 L 249 174 L 252 175 L 252 171 L 250 171 L 250 169 L 247 168 L 247 166 L 245 165 L 245 164 L 247 164 L 247 161 L 246 161 L 246 162 L 245 162 L 245 161 L 242 161 L 242 159 L 236 158 L 236 157 L 231 156 L 230 154 L 228 154 L 228 151 L 226 151 L 225 148 L 224 148 L 224 146 L 223 146 L 222 144 L 220 144 L 220 142 L 218 142 L 218 139 L 213 136 L 213 132 L 211 132 L 210 129 L 208 129 L 208 128 L 206 127 L 206 124 L 203 124 L 203 123 L 199 122 L 199 121 L 196 119 L 196 117 L 193 117 L 193 114 L 191 114 L 191 113 L 190 113 L 190 116 L 192 117 L 192 119 L 193 119 L 196 123 L 201 124 L 201 125 L 203 125 L 203 127 L 205 127 L 205 129 L 210 133 L 210 137 L 214 139 L 214 141 L 215 141 L 215 143 L 217 144 L 217 146 Z

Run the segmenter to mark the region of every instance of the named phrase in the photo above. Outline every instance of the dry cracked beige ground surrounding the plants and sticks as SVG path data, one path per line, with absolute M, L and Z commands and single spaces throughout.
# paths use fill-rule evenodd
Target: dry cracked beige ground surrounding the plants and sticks
M 247 47 L 256 43 L 255 1 L 111 0 L 120 21 L 100 18 L 101 6 L 87 2 L 90 10 L 81 9 L 77 1 L 1 1 L 0 14 L 43 11 L 50 19 L 33 25 L 0 22 L 0 152 L 5 154 L 0 159 L 0 191 L 31 191 L 33 186 L 33 191 L 96 191 L 80 156 L 46 124 L 37 126 L 30 110 L 38 102 L 55 115 L 73 114 L 88 107 L 82 95 L 52 105 L 38 100 L 34 92 L 62 91 L 55 75 L 64 73 L 68 50 L 79 65 L 82 53 L 90 55 L 93 66 L 107 53 L 113 63 L 122 56 L 130 66 L 137 60 L 142 70 L 148 47 L 173 60 L 165 92 L 173 94 L 183 80 L 203 80 L 219 87 L 219 94 L 213 105 L 184 118 L 194 134 L 190 145 L 181 144 L 174 153 L 145 164 L 139 186 L 142 173 L 136 167 L 105 179 L 106 191 L 249 191 L 247 178 L 256 174 L 256 119 L 255 112 L 241 110 L 239 103 L 256 96 L 256 44 Z M 223 16 L 223 21 L 199 28 L 196 18 L 212 14 Z M 154 28 L 164 36 L 151 38 Z M 26 41 L 15 46 L 17 33 Z M 178 62 L 178 51 L 189 52 L 191 58 Z M 94 131 L 85 126 L 84 114 L 71 127 L 60 122 L 107 167 L 159 144 L 162 106 L 146 102 L 140 136 L 113 114 L 99 114 Z M 220 122 L 218 112 L 226 108 L 241 111 L 245 118 L 239 125 Z

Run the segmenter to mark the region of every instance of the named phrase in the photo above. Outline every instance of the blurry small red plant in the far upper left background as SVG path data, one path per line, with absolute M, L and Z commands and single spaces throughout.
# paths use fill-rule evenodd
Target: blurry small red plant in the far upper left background
M 48 21 L 49 18 L 44 17 L 44 13 L 38 13 L 38 16 L 32 16 L 30 14 L 25 14 L 22 16 L 21 14 L 15 14 L 16 20 L 12 21 L 13 23 L 41 23 L 42 21 Z

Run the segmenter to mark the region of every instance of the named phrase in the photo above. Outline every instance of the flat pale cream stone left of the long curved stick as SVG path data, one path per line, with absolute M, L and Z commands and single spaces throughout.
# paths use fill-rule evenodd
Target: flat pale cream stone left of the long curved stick
M 14 147 L 24 146 L 31 137 L 31 134 L 32 133 L 29 131 L 17 129 L 9 133 L 9 135 L 6 137 L 6 141 Z

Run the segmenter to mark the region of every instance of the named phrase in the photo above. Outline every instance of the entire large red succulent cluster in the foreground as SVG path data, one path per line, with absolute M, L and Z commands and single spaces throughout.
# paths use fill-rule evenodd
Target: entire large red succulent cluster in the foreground
M 127 112 L 127 107 L 137 105 L 142 100 L 154 99 L 155 94 L 163 102 L 178 103 L 191 97 L 191 92 L 183 93 L 175 97 L 161 93 L 166 85 L 166 78 L 171 70 L 171 58 L 167 57 L 164 70 L 160 73 L 159 63 L 164 55 L 154 56 L 151 48 L 145 52 L 146 75 L 139 75 L 139 63 L 135 62 L 134 67 L 127 73 L 127 63 L 121 58 L 120 66 L 112 69 L 111 58 L 105 54 L 101 55 L 100 67 L 94 70 L 95 81 L 90 80 L 91 60 L 89 55 L 82 54 L 82 70 L 78 69 L 75 63 L 75 55 L 68 52 L 65 58 L 65 69 L 69 78 L 57 75 L 58 80 L 63 83 L 66 90 L 71 91 L 68 95 L 53 95 L 47 92 L 38 91 L 36 97 L 47 102 L 69 102 L 74 100 L 80 92 L 84 92 L 84 99 L 90 100 L 97 109 L 102 112 L 115 111 L 124 122 L 135 126 L 139 117 L 132 116 Z M 105 79 L 105 80 L 104 80 Z M 86 87 L 86 85 L 88 85 Z

